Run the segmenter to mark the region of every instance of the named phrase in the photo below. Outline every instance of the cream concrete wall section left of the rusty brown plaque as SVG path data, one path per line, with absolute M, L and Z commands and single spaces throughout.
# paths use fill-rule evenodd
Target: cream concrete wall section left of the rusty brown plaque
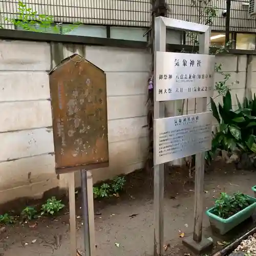
M 0 203 L 58 186 L 45 42 L 0 41 Z

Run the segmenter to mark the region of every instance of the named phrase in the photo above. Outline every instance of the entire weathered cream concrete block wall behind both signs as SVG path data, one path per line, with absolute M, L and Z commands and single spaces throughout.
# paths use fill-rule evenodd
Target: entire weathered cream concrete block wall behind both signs
M 56 176 L 54 170 L 48 80 L 56 62 L 51 59 L 56 56 L 52 51 L 60 45 L 0 41 L 0 204 L 19 197 L 41 197 L 51 188 L 67 187 L 65 175 Z M 146 124 L 150 54 L 146 50 L 96 46 L 60 48 L 62 57 L 78 52 L 106 73 L 110 167 L 93 170 L 94 182 L 141 168 L 148 144 L 147 130 L 142 126 Z M 230 81 L 239 80 L 231 87 L 234 105 L 236 94 L 242 101 L 248 88 L 256 92 L 256 58 L 251 56 L 250 69 L 247 62 L 244 55 L 217 57 L 223 71 L 231 74 Z M 221 78 L 216 75 L 215 79 Z M 216 100 L 221 102 L 221 97 Z M 188 101 L 188 114 L 193 110 L 192 99 Z

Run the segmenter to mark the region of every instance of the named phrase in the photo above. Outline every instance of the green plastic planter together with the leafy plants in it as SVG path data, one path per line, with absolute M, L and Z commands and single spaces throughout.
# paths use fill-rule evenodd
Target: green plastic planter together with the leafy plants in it
M 221 193 L 220 198 L 215 201 L 215 206 L 208 209 L 206 214 L 209 216 L 211 227 L 220 234 L 225 234 L 251 217 L 255 207 L 256 198 L 239 192 L 233 196 Z

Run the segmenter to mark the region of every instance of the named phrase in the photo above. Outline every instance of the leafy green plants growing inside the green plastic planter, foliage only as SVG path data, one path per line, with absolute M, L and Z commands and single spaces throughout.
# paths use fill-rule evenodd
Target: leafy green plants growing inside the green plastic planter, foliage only
M 232 197 L 226 193 L 221 193 L 220 198 L 215 201 L 213 213 L 223 219 L 227 219 L 249 205 L 250 200 L 243 193 L 234 193 Z

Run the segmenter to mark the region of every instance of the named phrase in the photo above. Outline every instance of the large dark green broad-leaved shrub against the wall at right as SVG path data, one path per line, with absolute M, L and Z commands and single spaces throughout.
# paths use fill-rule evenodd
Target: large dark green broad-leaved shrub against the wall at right
M 231 94 L 228 90 L 223 96 L 223 104 L 218 108 L 210 99 L 212 115 L 217 119 L 219 127 L 212 133 L 212 148 L 206 154 L 210 161 L 218 150 L 227 152 L 256 153 L 256 97 L 244 99 L 241 104 L 237 97 L 238 110 L 232 109 Z

